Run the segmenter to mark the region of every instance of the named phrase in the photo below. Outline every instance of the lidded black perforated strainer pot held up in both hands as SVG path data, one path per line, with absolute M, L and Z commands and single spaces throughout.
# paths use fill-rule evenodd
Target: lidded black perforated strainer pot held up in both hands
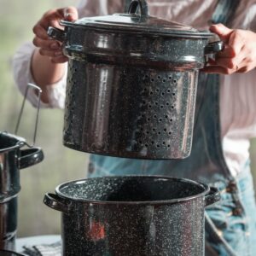
M 136 13 L 139 7 L 139 14 Z M 198 71 L 222 49 L 200 32 L 148 14 L 62 20 L 49 28 L 68 56 L 64 145 L 138 159 L 181 159 L 191 150 Z

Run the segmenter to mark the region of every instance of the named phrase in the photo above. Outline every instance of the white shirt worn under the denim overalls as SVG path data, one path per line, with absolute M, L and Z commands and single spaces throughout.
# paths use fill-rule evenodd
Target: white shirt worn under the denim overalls
M 124 11 L 123 0 L 82 0 L 79 17 L 109 15 Z M 166 20 L 207 29 L 217 0 L 148 0 L 150 15 Z M 242 0 L 236 10 L 232 28 L 256 32 L 256 0 Z M 24 94 L 27 83 L 33 83 L 30 72 L 32 43 L 24 44 L 13 60 L 15 82 Z M 64 108 L 67 72 L 55 84 L 47 87 L 49 104 L 44 108 Z M 249 139 L 256 137 L 256 69 L 249 73 L 221 76 L 220 121 L 224 157 L 230 172 L 236 176 L 249 157 Z M 36 106 L 37 96 L 30 91 L 27 96 Z

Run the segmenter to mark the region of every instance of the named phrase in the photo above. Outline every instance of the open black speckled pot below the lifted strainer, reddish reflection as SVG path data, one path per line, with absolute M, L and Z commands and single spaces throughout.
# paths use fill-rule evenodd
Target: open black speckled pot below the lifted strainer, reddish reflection
M 44 203 L 62 212 L 63 255 L 203 256 L 205 207 L 218 190 L 188 179 L 96 177 L 63 183 Z

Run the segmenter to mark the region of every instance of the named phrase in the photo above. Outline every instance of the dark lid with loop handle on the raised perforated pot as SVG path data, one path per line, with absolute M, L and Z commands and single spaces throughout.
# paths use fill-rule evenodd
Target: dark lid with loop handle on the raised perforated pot
M 150 16 L 148 12 L 148 4 L 145 0 L 132 0 L 127 14 L 86 17 L 76 20 L 75 22 L 61 20 L 61 25 L 85 26 L 86 28 L 93 27 L 123 32 L 141 32 L 153 35 L 169 35 L 172 37 L 212 37 L 211 32 L 198 31 L 191 26 Z

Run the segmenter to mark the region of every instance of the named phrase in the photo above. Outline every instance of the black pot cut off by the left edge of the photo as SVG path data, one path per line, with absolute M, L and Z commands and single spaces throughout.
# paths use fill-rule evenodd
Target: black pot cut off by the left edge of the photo
M 24 138 L 0 132 L 0 249 L 15 249 L 20 169 L 44 159 L 41 148 L 22 149 L 26 145 Z

